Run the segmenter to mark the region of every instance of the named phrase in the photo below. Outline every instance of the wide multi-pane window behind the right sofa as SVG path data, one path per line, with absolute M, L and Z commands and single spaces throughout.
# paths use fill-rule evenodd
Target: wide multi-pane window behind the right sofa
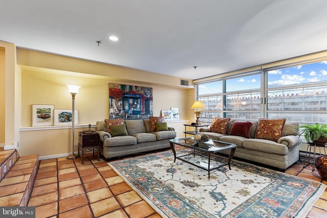
M 197 99 L 206 107 L 201 123 L 211 124 L 215 116 L 327 123 L 327 61 L 248 72 L 197 88 Z

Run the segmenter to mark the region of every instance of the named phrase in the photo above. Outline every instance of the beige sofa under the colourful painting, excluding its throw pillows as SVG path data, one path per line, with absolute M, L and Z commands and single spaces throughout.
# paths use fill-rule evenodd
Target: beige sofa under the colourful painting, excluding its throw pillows
M 111 137 L 104 120 L 97 122 L 100 153 L 106 159 L 170 148 L 169 140 L 176 137 L 171 127 L 168 131 L 151 132 L 149 119 L 124 120 L 124 123 L 128 135 Z

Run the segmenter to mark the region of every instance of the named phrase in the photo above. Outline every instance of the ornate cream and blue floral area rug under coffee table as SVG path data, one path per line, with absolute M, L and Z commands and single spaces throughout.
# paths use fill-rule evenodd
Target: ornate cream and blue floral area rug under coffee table
M 205 163 L 203 157 L 186 158 Z M 236 160 L 231 170 L 215 169 L 208 179 L 203 169 L 178 159 L 174 163 L 172 151 L 108 164 L 163 217 L 306 217 L 326 188 Z

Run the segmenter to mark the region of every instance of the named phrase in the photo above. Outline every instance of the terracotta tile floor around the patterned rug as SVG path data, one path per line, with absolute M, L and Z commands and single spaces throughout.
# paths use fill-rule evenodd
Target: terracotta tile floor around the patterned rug
M 29 206 L 36 217 L 160 217 L 135 191 L 92 153 L 81 158 L 41 160 Z M 311 166 L 294 164 L 286 173 L 321 180 Z M 327 191 L 307 217 L 327 217 Z

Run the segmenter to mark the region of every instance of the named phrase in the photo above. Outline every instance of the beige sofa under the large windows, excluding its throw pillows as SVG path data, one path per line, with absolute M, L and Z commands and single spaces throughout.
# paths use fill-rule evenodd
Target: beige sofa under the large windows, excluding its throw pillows
M 298 136 L 298 124 L 286 122 L 283 128 L 283 136 L 277 142 L 266 139 L 255 139 L 258 122 L 253 123 L 250 129 L 250 138 L 229 135 L 235 120 L 230 120 L 227 125 L 226 134 L 210 132 L 208 128 L 199 129 L 200 134 L 208 135 L 210 138 L 235 143 L 237 145 L 234 157 L 262 163 L 279 169 L 286 169 L 299 160 L 299 145 L 302 142 Z M 229 151 L 222 152 L 226 155 Z

